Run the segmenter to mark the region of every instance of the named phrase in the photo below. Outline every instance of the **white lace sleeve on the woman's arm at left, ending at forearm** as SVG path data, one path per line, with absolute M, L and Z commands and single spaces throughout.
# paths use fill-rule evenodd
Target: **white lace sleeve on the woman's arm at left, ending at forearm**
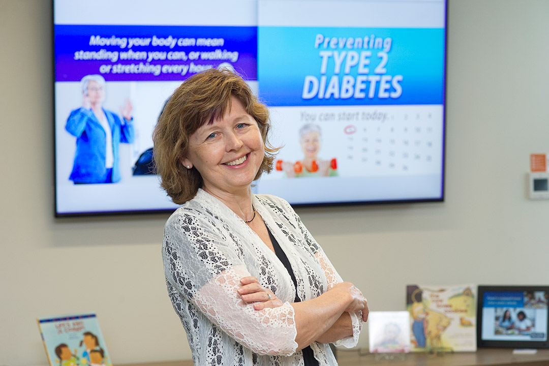
M 256 311 L 240 299 L 239 280 L 249 276 L 234 238 L 197 212 L 174 215 L 164 232 L 164 270 L 173 288 L 212 323 L 255 353 L 296 351 L 294 309 L 288 303 Z

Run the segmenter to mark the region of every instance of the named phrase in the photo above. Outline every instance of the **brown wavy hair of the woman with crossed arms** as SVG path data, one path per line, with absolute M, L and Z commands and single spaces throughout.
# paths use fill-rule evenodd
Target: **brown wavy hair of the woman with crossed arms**
M 210 69 L 184 81 L 166 102 L 153 132 L 154 161 L 160 176 L 160 185 L 178 205 L 192 199 L 203 181 L 196 168 L 187 169 L 182 160 L 187 156 L 189 136 L 205 123 L 225 115 L 231 109 L 231 97 L 242 103 L 245 111 L 254 117 L 265 145 L 265 156 L 254 178 L 272 170 L 275 154 L 267 139 L 271 127 L 269 112 L 251 92 L 248 84 L 234 72 Z

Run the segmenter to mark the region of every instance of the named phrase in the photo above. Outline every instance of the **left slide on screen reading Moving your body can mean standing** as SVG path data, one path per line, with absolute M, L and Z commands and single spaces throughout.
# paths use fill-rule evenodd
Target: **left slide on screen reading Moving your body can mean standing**
M 220 66 L 257 91 L 256 2 L 161 0 L 155 8 L 166 12 L 128 0 L 54 1 L 57 215 L 175 209 L 150 174 L 166 99 L 189 76 Z M 106 122 L 90 110 L 98 101 Z

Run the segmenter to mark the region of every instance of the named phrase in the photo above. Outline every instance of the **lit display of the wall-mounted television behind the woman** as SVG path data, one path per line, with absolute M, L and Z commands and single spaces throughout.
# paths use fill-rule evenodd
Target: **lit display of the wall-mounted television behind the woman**
M 282 149 L 254 192 L 293 205 L 443 200 L 446 8 L 54 0 L 55 215 L 173 211 L 152 131 L 173 90 L 211 67 L 238 72 L 270 108 Z

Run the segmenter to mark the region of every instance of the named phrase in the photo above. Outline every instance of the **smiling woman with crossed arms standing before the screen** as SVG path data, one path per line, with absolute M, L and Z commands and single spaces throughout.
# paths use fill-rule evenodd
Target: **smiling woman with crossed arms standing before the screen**
M 268 111 L 228 70 L 171 96 L 153 134 L 173 202 L 163 258 L 195 365 L 335 365 L 328 342 L 356 345 L 366 299 L 341 282 L 288 202 L 254 195 L 272 168 Z

